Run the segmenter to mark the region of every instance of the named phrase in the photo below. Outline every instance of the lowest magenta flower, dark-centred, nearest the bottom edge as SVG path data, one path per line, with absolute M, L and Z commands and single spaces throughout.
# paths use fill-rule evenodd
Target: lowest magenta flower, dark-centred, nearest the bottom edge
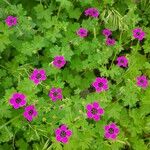
M 61 125 L 55 130 L 56 140 L 62 143 L 67 143 L 72 135 L 72 131 L 68 130 L 66 125 Z

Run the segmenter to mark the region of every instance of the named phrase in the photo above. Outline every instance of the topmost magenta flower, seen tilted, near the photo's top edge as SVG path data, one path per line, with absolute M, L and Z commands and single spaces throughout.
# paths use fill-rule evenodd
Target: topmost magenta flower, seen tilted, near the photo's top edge
M 86 16 L 90 16 L 93 18 L 98 18 L 99 16 L 99 11 L 96 8 L 88 8 L 85 10 L 84 13 Z

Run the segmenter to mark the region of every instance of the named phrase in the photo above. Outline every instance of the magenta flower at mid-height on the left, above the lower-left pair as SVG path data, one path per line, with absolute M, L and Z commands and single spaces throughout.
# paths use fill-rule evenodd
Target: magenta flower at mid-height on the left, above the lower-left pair
M 33 80 L 33 82 L 38 85 L 39 83 L 41 83 L 41 81 L 46 80 L 46 73 L 45 70 L 43 69 L 34 69 L 31 76 L 30 76 L 30 80 Z

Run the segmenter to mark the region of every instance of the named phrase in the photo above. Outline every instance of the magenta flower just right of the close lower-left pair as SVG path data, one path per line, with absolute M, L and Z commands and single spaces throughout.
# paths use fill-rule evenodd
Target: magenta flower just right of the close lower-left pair
M 62 89 L 61 88 L 52 88 L 49 91 L 49 97 L 52 99 L 52 101 L 63 99 Z

